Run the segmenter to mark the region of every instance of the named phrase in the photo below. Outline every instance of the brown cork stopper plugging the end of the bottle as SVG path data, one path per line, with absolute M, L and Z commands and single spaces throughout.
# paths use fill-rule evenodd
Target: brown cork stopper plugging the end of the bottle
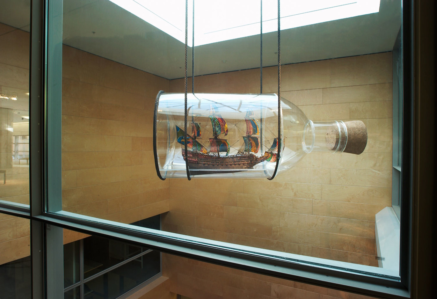
M 336 126 L 329 126 L 326 129 L 326 146 L 329 150 L 341 150 L 344 147 L 343 153 L 353 153 L 355 155 L 361 154 L 367 145 L 367 128 L 364 122 L 361 121 L 349 121 L 344 122 L 347 129 L 346 132 L 342 132 Z M 341 135 L 341 138 L 340 138 Z M 340 144 L 340 149 L 337 149 Z M 346 144 L 344 144 L 346 142 Z

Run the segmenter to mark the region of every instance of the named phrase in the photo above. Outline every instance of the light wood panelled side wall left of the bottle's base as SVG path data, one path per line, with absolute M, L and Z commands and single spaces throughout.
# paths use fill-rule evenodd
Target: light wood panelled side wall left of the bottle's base
M 65 45 L 62 55 L 62 209 L 122 223 L 167 212 L 151 119 L 169 81 Z

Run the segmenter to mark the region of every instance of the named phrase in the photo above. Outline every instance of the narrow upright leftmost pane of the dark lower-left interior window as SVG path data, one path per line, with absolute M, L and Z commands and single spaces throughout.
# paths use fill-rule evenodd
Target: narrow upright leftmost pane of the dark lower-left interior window
M 64 245 L 64 288 L 80 280 L 80 241 Z

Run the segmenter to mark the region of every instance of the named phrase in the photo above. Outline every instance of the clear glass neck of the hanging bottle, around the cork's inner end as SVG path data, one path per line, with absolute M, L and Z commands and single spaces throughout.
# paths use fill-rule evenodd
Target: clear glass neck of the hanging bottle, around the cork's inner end
M 344 122 L 306 122 L 302 136 L 302 149 L 305 153 L 342 153 L 346 144 L 347 127 Z

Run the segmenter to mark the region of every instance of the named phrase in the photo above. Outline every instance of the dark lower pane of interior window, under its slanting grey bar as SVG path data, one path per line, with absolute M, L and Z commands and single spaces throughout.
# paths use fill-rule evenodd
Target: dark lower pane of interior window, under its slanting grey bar
M 117 298 L 159 271 L 160 253 L 152 251 L 85 283 L 85 298 Z

